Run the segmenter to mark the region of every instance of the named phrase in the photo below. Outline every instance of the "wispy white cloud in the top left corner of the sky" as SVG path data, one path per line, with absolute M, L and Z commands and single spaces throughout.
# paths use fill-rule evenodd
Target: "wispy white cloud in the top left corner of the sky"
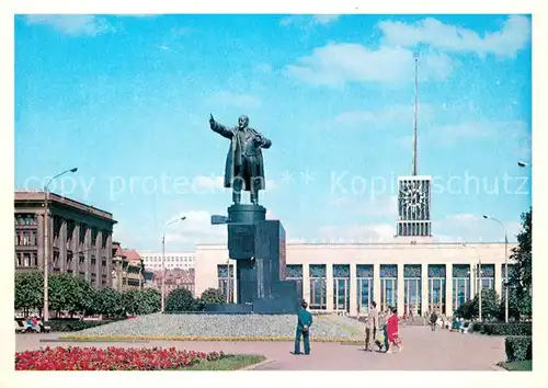
M 114 27 L 104 18 L 95 15 L 26 15 L 30 24 L 48 25 L 68 35 L 95 36 L 114 32 Z

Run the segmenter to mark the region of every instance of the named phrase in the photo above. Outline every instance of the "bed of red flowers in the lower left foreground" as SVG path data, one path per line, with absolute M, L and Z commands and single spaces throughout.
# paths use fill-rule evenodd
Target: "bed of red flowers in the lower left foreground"
M 222 358 L 222 352 L 170 349 L 45 347 L 15 353 L 15 370 L 161 370 L 182 369 L 201 361 Z

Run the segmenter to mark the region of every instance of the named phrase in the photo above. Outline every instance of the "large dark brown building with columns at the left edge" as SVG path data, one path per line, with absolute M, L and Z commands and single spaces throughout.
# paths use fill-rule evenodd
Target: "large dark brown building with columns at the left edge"
M 95 287 L 112 284 L 113 215 L 54 193 L 14 193 L 15 271 L 44 270 L 49 244 L 50 273 L 83 276 Z M 44 225 L 48 222 L 48 241 Z

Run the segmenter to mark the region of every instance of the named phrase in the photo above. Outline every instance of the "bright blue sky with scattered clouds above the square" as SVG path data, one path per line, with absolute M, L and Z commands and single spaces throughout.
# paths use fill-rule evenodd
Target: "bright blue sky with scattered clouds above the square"
M 441 240 L 495 241 L 530 205 L 530 18 L 524 15 L 20 15 L 15 187 L 106 209 L 124 246 L 225 240 L 208 225 L 240 114 L 272 139 L 262 204 L 290 240 L 391 239 L 411 171 Z

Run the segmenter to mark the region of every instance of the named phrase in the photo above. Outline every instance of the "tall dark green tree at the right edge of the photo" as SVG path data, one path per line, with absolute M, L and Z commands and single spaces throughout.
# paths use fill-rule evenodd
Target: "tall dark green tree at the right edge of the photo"
M 514 271 L 509 273 L 509 287 L 515 289 L 517 306 L 523 309 L 521 316 L 530 317 L 530 293 L 533 289 L 533 208 L 522 214 L 522 231 L 517 235 L 517 247 L 512 249 L 510 259 L 515 263 Z M 510 303 L 510 300 L 509 300 Z

